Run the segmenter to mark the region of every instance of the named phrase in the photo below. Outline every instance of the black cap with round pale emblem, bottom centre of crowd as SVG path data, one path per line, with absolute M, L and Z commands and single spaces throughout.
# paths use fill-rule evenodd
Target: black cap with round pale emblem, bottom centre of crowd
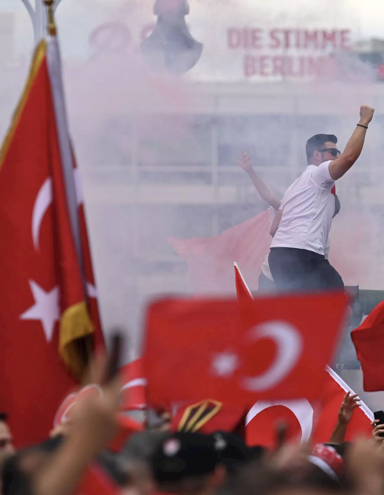
M 202 433 L 169 435 L 151 460 L 155 480 L 161 485 L 213 473 L 218 462 L 215 443 L 212 436 Z

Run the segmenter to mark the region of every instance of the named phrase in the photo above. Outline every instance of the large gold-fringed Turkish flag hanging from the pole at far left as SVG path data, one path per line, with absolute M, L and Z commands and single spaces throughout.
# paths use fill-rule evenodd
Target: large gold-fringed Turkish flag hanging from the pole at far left
M 58 320 L 86 300 L 44 50 L 0 155 L 0 410 L 18 447 L 47 438 L 76 385 L 60 361 Z

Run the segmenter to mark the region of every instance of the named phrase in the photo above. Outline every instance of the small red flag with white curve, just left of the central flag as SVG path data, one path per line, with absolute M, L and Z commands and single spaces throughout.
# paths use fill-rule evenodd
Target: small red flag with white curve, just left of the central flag
M 124 411 L 145 409 L 147 405 L 146 383 L 144 378 L 143 360 L 136 359 L 120 370 L 121 409 Z

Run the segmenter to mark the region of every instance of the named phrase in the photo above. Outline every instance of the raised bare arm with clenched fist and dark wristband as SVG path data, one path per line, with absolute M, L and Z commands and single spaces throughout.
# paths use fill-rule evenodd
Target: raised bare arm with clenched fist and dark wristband
M 359 125 L 356 127 L 341 155 L 329 163 L 329 175 L 334 181 L 340 179 L 360 156 L 367 133 L 366 127 L 371 122 L 374 111 L 370 106 L 362 105 L 360 107 Z

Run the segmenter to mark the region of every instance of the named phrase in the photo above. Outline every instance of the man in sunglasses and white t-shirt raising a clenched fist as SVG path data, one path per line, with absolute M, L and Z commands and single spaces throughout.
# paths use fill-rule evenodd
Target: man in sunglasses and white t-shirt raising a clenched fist
M 374 109 L 363 105 L 360 120 L 343 153 L 332 134 L 307 141 L 308 166 L 286 190 L 271 228 L 269 265 L 277 290 L 343 290 L 340 275 L 325 259 L 335 204 L 330 191 L 363 149 Z

